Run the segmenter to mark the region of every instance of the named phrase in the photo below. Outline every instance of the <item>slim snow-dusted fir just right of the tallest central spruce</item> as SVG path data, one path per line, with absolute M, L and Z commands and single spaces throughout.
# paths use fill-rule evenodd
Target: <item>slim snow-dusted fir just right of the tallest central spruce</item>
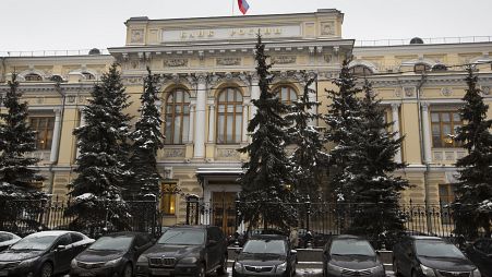
M 315 125 L 320 115 L 313 113 L 313 110 L 317 110 L 320 103 L 310 98 L 315 94 L 310 89 L 315 79 L 305 77 L 307 84 L 303 94 L 293 101 L 290 111 L 285 117 L 288 121 L 293 122 L 287 133 L 289 142 L 297 145 L 289 159 L 292 165 L 293 189 L 299 193 L 301 201 L 320 201 L 320 183 L 327 154 L 323 150 L 323 134 Z

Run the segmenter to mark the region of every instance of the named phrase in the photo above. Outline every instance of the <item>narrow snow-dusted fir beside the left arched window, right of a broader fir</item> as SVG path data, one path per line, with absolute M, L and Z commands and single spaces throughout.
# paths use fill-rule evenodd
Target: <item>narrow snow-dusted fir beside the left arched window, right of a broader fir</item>
M 129 198 L 148 194 L 158 197 L 160 176 L 157 171 L 157 150 L 164 146 L 164 135 L 160 132 L 163 120 L 156 106 L 158 101 L 157 83 L 159 76 L 148 74 L 144 79 L 144 92 L 139 109 L 141 117 L 135 123 L 135 130 L 130 134 L 133 141 L 130 166 L 133 169 L 129 190 Z

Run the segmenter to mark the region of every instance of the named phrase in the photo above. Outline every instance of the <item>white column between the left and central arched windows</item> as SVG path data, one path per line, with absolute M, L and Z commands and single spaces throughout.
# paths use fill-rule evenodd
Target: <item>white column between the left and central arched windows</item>
M 196 123 L 194 141 L 194 158 L 205 157 L 205 109 L 206 109 L 206 75 L 200 75 L 196 86 Z

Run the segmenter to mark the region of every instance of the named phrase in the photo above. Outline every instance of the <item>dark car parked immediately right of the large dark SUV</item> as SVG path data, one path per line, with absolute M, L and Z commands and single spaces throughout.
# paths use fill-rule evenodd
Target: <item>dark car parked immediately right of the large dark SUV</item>
M 296 274 L 297 252 L 279 234 L 255 234 L 236 257 L 232 276 L 283 276 Z

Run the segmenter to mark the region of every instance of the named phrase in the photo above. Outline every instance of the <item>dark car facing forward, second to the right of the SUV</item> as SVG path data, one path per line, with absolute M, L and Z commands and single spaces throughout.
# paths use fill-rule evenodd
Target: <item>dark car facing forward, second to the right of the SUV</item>
M 332 237 L 323 249 L 323 276 L 386 276 L 383 263 L 368 240 L 356 236 Z

